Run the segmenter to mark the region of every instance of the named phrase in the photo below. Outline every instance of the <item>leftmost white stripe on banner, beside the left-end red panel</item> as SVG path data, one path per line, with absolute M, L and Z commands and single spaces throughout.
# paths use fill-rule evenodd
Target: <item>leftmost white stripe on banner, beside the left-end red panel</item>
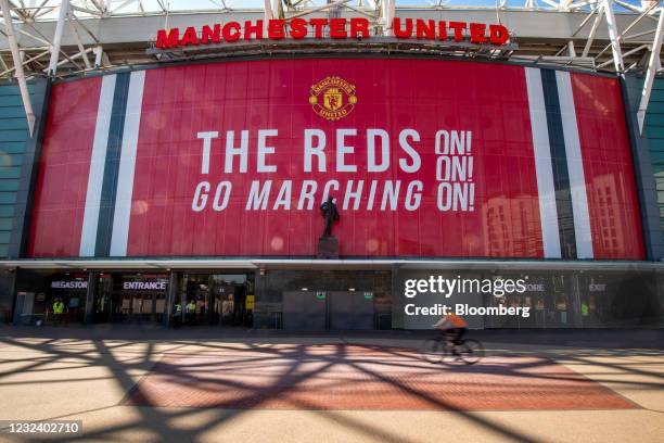
M 97 245 L 97 225 L 99 223 L 99 207 L 101 190 L 104 182 L 104 165 L 106 163 L 106 147 L 108 145 L 108 131 L 111 130 L 111 112 L 113 110 L 113 94 L 115 93 L 115 74 L 102 78 L 97 109 L 97 123 L 94 126 L 94 140 L 92 141 L 92 156 L 90 159 L 90 175 L 88 176 L 88 191 L 86 194 L 86 208 L 84 225 L 80 232 L 81 257 L 94 256 Z

